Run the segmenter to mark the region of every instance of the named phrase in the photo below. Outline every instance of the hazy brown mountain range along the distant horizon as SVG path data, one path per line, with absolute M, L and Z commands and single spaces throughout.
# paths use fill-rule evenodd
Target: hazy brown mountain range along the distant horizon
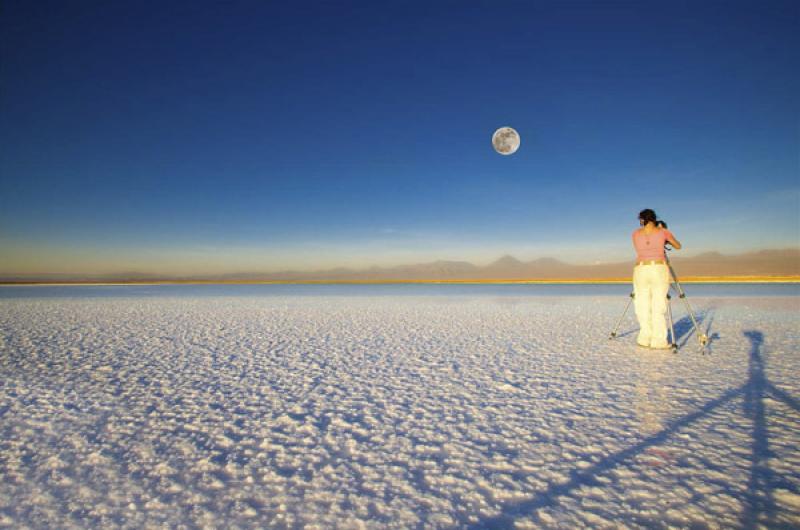
M 737 255 L 708 252 L 692 257 L 671 256 L 680 277 L 800 276 L 800 248 L 761 250 Z M 5 275 L 0 282 L 135 282 L 135 281 L 463 281 L 463 280 L 609 280 L 631 275 L 630 261 L 573 265 L 554 258 L 520 261 L 513 256 L 485 266 L 466 261 L 433 261 L 395 267 L 335 268 L 319 271 L 250 272 L 218 276 L 161 277 L 129 272 L 102 276 Z

